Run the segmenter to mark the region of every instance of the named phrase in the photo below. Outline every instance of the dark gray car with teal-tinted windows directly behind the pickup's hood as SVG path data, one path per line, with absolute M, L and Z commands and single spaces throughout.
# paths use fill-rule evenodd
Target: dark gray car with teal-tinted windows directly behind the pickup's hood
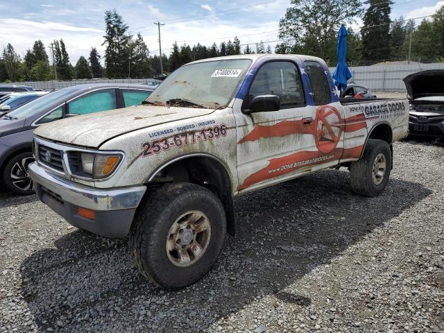
M 75 85 L 35 99 L 0 118 L 0 188 L 33 193 L 28 165 L 34 161 L 33 131 L 50 121 L 139 105 L 155 87 L 93 83 Z M 80 116 L 81 117 L 81 116 Z

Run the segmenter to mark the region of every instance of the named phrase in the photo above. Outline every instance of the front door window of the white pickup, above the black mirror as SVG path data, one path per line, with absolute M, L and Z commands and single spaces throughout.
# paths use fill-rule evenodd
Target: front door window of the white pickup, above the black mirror
M 267 62 L 257 72 L 248 99 L 259 95 L 278 95 L 281 108 L 305 105 L 304 88 L 296 65 L 288 61 Z

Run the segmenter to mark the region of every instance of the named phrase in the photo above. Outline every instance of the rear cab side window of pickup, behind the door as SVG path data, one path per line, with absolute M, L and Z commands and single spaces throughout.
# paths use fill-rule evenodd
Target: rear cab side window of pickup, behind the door
M 305 67 L 307 67 L 311 92 L 313 92 L 314 105 L 330 103 L 330 85 L 322 65 L 317 61 L 305 61 L 304 63 Z

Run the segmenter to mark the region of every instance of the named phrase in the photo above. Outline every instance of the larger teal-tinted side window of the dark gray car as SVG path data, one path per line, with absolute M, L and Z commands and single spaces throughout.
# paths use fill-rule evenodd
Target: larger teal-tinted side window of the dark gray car
M 74 114 L 89 114 L 115 108 L 117 108 L 115 89 L 90 92 L 68 103 L 68 112 Z

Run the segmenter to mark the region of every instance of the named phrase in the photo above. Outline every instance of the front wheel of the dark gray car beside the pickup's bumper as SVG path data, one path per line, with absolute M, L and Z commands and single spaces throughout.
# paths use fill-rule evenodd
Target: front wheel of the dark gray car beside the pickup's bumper
M 15 194 L 34 193 L 33 181 L 28 174 L 28 165 L 34 162 L 31 152 L 19 153 L 12 157 L 3 169 L 3 184 Z

